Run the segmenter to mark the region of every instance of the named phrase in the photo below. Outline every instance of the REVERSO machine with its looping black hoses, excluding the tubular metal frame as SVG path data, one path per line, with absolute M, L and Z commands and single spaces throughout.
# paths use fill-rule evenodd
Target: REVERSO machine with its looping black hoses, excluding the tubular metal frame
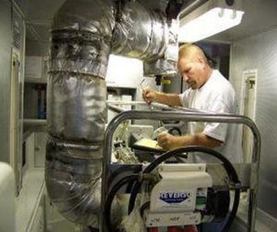
M 183 152 L 206 152 L 224 163 L 226 179 L 229 179 L 235 186 L 233 209 L 228 217 L 226 215 L 230 205 L 229 190 L 213 186 L 213 178 L 207 172 L 206 164 L 161 164 L 170 157 Z M 123 175 L 123 172 L 129 172 L 132 169 L 134 166 L 123 166 L 118 169 L 119 171 L 117 170 L 115 175 Z M 224 175 L 225 172 L 222 174 Z M 112 176 L 114 180 L 115 177 Z M 147 231 L 147 229 L 148 231 L 161 231 L 161 229 L 162 231 L 164 229 L 179 231 L 178 228 L 180 231 L 197 231 L 196 225 L 203 222 L 223 221 L 225 221 L 224 231 L 228 231 L 240 199 L 241 185 L 235 168 L 221 154 L 202 147 L 187 147 L 166 152 L 148 166 L 143 166 L 140 172 L 135 170 L 132 175 L 125 176 L 116 183 L 113 182 L 110 181 L 112 188 L 105 202 L 108 231 L 114 231 L 111 203 L 118 194 L 118 190 L 122 189 L 125 184 L 128 186 L 125 194 L 129 191 L 131 193 L 128 207 L 129 217 L 131 217 L 129 220 L 133 220 L 133 223 L 143 220 L 138 231 Z M 141 197 L 136 201 L 142 183 Z M 227 182 L 225 188 L 227 188 Z M 134 202 L 136 202 L 136 207 Z M 139 211 L 139 214 L 133 213 L 135 211 Z M 120 226 L 123 226 L 125 231 L 129 231 L 124 223 Z M 132 229 L 132 231 L 136 230 Z

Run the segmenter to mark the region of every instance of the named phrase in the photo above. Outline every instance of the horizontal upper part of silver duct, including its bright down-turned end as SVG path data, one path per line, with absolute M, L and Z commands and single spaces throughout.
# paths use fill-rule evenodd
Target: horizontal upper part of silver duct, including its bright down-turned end
M 163 12 L 127 1 L 114 28 L 112 53 L 143 60 L 146 76 L 175 74 L 177 26 L 178 21 L 167 22 Z

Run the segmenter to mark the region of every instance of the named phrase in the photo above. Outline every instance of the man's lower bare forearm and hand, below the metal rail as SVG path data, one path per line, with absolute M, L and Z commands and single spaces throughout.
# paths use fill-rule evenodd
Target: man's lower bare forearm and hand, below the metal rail
M 174 150 L 187 145 L 202 145 L 208 148 L 216 148 L 222 141 L 213 139 L 204 133 L 185 136 L 173 136 L 168 133 L 161 133 L 158 136 L 158 144 L 166 150 Z

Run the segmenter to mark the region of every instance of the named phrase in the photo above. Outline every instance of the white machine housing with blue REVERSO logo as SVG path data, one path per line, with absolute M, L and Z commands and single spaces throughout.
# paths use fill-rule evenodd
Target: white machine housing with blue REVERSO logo
M 199 211 L 206 207 L 207 190 L 213 181 L 204 163 L 163 164 L 161 181 L 154 186 L 150 210 L 145 212 L 147 227 L 199 224 Z

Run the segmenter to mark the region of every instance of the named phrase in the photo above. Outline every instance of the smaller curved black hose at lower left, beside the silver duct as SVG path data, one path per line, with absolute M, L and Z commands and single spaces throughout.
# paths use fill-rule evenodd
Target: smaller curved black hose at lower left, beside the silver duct
M 109 194 L 107 195 L 107 199 L 105 202 L 105 218 L 108 231 L 114 231 L 112 230 L 111 226 L 111 204 L 114 200 L 117 191 L 125 184 L 129 183 L 130 181 L 136 181 L 138 178 L 139 175 L 129 175 L 127 177 L 123 177 L 123 179 L 120 179 L 118 182 L 116 182 L 113 188 L 111 188 L 111 190 L 109 191 Z

